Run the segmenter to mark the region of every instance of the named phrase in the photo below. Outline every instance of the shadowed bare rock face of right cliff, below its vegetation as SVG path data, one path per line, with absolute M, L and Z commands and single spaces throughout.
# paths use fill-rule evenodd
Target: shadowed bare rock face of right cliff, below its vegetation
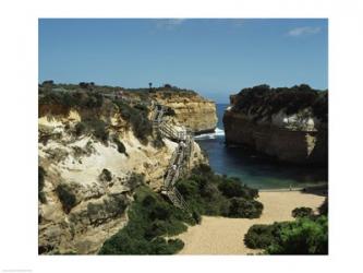
M 312 115 L 303 120 L 278 112 L 256 120 L 253 115 L 235 112 L 230 107 L 223 115 L 226 142 L 243 144 L 258 152 L 295 164 L 327 164 L 327 126 Z

